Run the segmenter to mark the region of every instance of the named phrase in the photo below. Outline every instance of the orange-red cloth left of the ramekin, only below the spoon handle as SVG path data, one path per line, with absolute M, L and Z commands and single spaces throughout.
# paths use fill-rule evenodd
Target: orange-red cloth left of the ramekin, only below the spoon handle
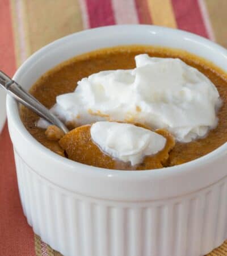
M 9 34 L 8 31 L 7 35 Z M 14 155 L 7 125 L 0 135 L 0 144 L 0 254 L 33 256 L 33 232 L 27 224 L 20 204 Z

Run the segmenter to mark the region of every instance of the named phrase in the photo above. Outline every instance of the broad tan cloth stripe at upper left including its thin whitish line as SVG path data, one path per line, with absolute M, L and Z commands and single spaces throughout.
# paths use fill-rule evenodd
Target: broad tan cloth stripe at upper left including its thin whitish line
M 18 66 L 45 44 L 83 29 L 78 0 L 10 1 Z

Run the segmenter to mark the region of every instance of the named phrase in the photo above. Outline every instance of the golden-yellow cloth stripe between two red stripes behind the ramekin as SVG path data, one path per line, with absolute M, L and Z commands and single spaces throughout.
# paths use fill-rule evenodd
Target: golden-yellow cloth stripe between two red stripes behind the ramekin
M 152 22 L 155 25 L 176 28 L 171 0 L 147 0 Z

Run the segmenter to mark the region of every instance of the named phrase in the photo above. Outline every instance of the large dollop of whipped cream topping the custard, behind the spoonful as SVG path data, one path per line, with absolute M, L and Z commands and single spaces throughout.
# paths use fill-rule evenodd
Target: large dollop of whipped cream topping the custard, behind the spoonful
M 96 121 L 142 123 L 165 128 L 176 141 L 204 137 L 217 125 L 220 97 L 215 85 L 180 59 L 135 57 L 136 68 L 102 71 L 57 97 L 51 111 L 77 126 Z M 47 127 L 41 119 L 38 126 Z

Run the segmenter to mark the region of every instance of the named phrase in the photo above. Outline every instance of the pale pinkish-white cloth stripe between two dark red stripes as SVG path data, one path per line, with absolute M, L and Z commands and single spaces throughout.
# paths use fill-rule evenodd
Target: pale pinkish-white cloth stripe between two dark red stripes
M 134 0 L 112 0 L 113 13 L 117 24 L 137 24 L 138 16 Z

